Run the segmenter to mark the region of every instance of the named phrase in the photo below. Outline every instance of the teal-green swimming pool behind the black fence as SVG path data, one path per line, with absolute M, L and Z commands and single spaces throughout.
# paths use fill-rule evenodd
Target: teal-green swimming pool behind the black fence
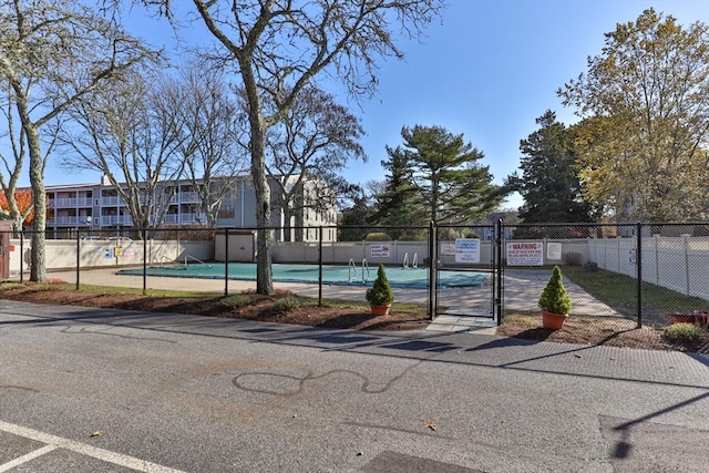
M 318 284 L 317 265 L 274 264 L 274 281 Z M 143 268 L 120 269 L 116 274 L 142 276 Z M 147 276 L 171 278 L 224 279 L 223 263 L 191 264 L 179 266 L 152 266 Z M 256 264 L 229 263 L 229 279 L 256 280 Z M 487 280 L 487 273 L 470 270 L 440 270 L 440 287 L 481 287 Z M 377 278 L 377 267 L 322 266 L 322 284 L 332 286 L 371 285 Z M 429 287 L 429 268 L 387 268 L 387 278 L 392 287 L 425 289 Z

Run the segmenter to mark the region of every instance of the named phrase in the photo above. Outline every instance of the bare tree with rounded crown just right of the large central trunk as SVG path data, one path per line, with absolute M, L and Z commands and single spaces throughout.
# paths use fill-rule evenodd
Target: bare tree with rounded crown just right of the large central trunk
M 277 183 L 290 240 L 294 215 L 306 208 L 322 213 L 335 205 L 333 187 L 350 160 L 366 161 L 358 140 L 364 135 L 357 116 L 315 86 L 305 88 L 284 120 L 267 134 L 266 171 Z M 300 238 L 297 230 L 296 239 Z

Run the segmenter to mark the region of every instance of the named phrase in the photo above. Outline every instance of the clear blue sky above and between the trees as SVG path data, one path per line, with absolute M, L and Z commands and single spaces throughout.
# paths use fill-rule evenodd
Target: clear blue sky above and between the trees
M 429 27 L 425 38 L 399 43 L 403 61 L 381 64 L 377 95 L 359 106 L 351 104 L 367 132 L 362 145 L 369 161 L 351 163 L 348 181 L 383 179 L 384 146 L 401 144 L 402 126 L 420 124 L 462 133 L 484 153 L 482 164 L 502 183 L 518 167 L 520 140 L 536 130 L 536 117 L 551 109 L 566 124 L 576 121 L 573 110 L 562 107 L 556 90 L 585 72 L 587 56 L 600 53 L 604 33 L 615 30 L 616 23 L 634 21 L 650 7 L 682 25 L 709 22 L 706 0 L 448 3 L 442 20 Z M 152 21 L 141 21 L 141 31 L 134 33 L 146 37 L 152 30 L 151 42 L 173 41 L 169 29 L 155 25 L 153 30 Z M 48 185 L 94 181 L 99 176 L 90 173 L 63 175 L 56 163 L 47 169 Z M 521 203 L 516 196 L 507 207 Z

